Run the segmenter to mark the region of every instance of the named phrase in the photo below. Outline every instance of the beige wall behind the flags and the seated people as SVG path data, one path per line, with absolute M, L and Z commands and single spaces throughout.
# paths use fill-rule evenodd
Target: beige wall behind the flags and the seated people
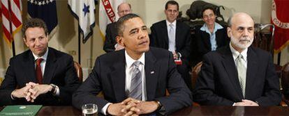
M 150 27 L 154 22 L 158 22 L 165 19 L 164 9 L 166 1 L 163 0 L 126 0 L 131 3 L 133 13 L 139 14 Z M 189 0 L 177 0 L 179 2 L 179 8 L 183 11 L 183 17 L 186 17 L 186 10 L 190 7 L 193 1 Z M 23 17 L 27 15 L 27 1 L 22 1 L 23 5 Z M 256 23 L 269 23 L 270 8 L 272 0 L 207 0 L 207 2 L 214 3 L 216 5 L 222 5 L 225 10 L 221 10 L 221 13 L 228 19 L 230 15 L 236 12 L 249 13 Z M 98 12 L 98 6 L 96 6 L 96 12 Z M 67 8 L 67 0 L 57 1 L 57 15 L 59 20 L 59 31 L 50 39 L 49 46 L 71 53 L 75 61 L 78 61 L 77 51 L 77 20 L 73 18 Z M 97 13 L 98 14 L 98 13 Z M 94 60 L 97 56 L 105 53 L 103 51 L 103 40 L 98 30 L 98 16 L 96 15 L 96 27 L 94 28 L 94 35 L 85 44 L 81 44 L 81 65 L 82 67 L 93 67 Z M 25 19 L 24 19 L 25 20 Z M 0 29 L 1 30 L 1 29 Z M 2 31 L 1 31 L 2 32 Z M 15 36 L 16 53 L 21 53 L 24 49 L 27 49 L 21 38 L 21 33 Z M 2 37 L 2 33 L 1 33 Z M 8 67 L 8 61 L 12 56 L 12 51 L 8 48 L 6 42 L 0 40 L 0 71 Z M 282 51 L 281 65 L 289 62 L 289 47 Z M 276 60 L 276 57 L 274 57 Z M 1 74 L 1 72 L 0 72 Z M 1 75 L 0 75 L 1 77 Z

